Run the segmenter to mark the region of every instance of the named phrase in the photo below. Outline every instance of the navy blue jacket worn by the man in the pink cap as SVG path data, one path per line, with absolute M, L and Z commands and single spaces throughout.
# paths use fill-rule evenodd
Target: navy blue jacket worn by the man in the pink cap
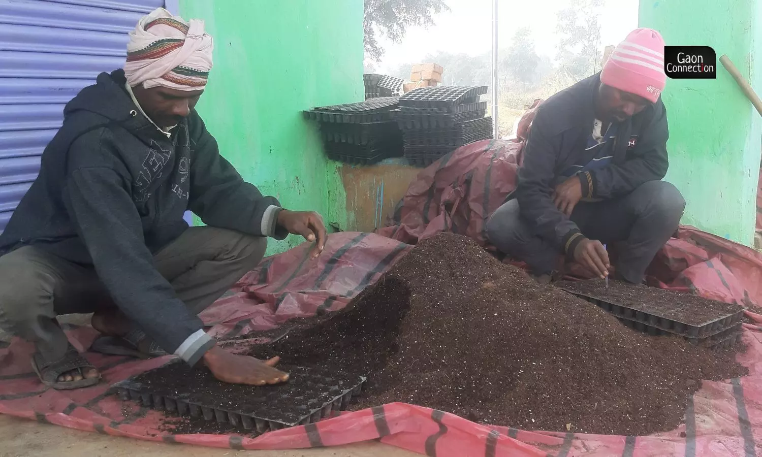
M 539 106 L 532 122 L 518 184 L 520 215 L 536 235 L 561 251 L 571 252 L 584 239 L 568 216 L 555 208 L 552 193 L 572 165 L 591 161 L 585 147 L 593 131 L 595 96 L 600 73 L 579 81 Z M 667 173 L 667 110 L 661 98 L 616 126 L 611 165 L 578 174 L 582 197 L 606 200 L 621 197 Z M 595 151 L 593 152 L 593 154 Z

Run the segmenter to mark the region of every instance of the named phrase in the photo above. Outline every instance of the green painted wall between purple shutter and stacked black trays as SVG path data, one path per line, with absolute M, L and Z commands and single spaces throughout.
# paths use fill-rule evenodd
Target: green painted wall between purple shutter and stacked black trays
M 283 207 L 347 226 L 339 165 L 322 152 L 301 111 L 362 101 L 363 2 L 181 0 L 183 18 L 206 21 L 214 68 L 198 104 L 220 152 Z M 268 254 L 303 242 L 271 240 Z

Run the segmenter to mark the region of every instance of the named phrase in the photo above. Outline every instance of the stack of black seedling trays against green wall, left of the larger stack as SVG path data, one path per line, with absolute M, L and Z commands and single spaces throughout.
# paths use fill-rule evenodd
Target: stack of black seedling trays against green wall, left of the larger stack
M 402 131 L 391 114 L 398 106 L 399 97 L 380 97 L 304 113 L 319 123 L 328 158 L 370 165 L 402 156 Z

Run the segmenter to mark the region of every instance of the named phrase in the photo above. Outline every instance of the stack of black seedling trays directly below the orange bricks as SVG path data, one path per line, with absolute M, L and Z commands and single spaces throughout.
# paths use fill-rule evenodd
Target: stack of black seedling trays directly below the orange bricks
M 479 101 L 486 93 L 486 86 L 439 86 L 400 97 L 393 116 L 402 129 L 405 158 L 426 166 L 460 146 L 492 138 L 492 118 Z

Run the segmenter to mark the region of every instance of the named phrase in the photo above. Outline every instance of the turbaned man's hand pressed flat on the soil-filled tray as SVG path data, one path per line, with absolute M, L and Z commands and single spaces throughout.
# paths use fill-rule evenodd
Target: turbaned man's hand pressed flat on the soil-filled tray
M 288 373 L 274 368 L 279 360 L 280 357 L 259 360 L 250 356 L 240 356 L 219 346 L 213 347 L 203 355 L 203 363 L 214 377 L 230 384 L 265 385 L 285 382 L 288 380 Z

